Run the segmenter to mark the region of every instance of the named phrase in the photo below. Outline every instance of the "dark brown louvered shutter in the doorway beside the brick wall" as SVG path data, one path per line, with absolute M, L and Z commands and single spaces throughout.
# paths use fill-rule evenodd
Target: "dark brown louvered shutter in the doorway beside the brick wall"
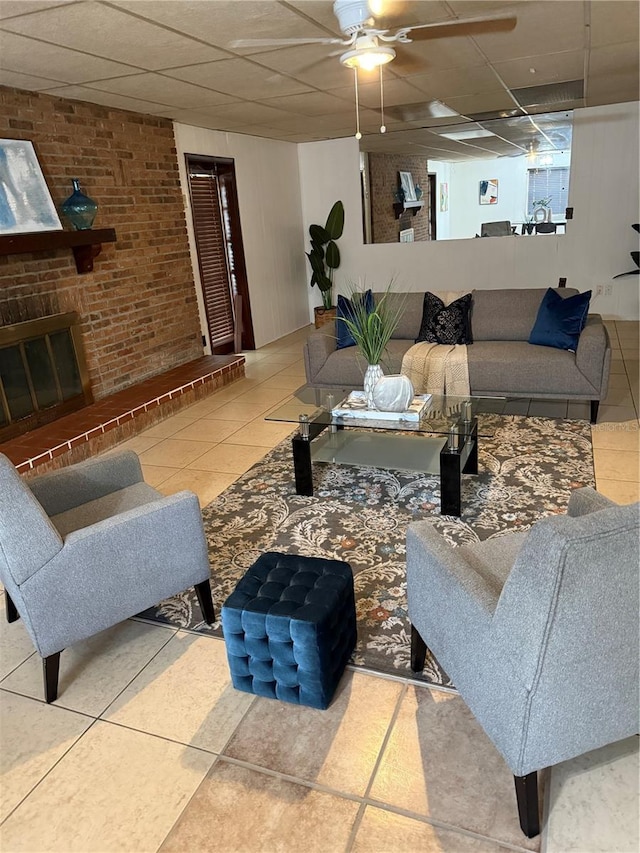
M 189 175 L 200 278 L 212 347 L 233 341 L 233 306 L 215 175 Z

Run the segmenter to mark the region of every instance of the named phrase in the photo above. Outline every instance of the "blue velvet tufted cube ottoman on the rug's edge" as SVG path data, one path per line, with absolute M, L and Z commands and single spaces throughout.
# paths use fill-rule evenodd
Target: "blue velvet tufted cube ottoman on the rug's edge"
M 348 563 L 268 552 L 222 606 L 233 686 L 326 708 L 356 643 Z

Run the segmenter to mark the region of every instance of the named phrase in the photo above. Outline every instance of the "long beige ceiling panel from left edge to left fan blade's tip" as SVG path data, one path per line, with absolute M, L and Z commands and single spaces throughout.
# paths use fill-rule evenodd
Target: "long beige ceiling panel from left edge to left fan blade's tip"
M 157 27 L 125 12 L 87 2 L 13 18 L 4 28 L 52 44 L 112 59 L 135 62 L 145 70 L 206 62 L 227 54 Z

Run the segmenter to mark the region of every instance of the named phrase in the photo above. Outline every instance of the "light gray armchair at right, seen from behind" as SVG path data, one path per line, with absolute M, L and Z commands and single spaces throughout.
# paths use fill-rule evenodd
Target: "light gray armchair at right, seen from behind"
M 585 488 L 473 545 L 409 526 L 412 669 L 426 643 L 514 774 L 529 837 L 538 770 L 638 731 L 639 513 Z

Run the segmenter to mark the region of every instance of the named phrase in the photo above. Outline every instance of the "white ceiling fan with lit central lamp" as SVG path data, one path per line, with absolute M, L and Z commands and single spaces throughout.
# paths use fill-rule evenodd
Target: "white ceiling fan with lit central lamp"
M 512 30 L 516 18 L 512 14 L 483 15 L 473 18 L 451 18 L 430 24 L 412 24 L 391 33 L 375 26 L 375 12 L 381 4 L 375 0 L 335 0 L 333 12 L 344 38 L 236 39 L 232 47 L 286 47 L 300 44 L 336 44 L 347 48 L 338 51 L 340 62 L 349 68 L 370 71 L 396 57 L 390 43 L 410 44 L 421 38 L 447 38 L 483 32 Z M 411 34 L 411 37 L 410 35 Z M 337 54 L 332 54 L 337 55 Z

